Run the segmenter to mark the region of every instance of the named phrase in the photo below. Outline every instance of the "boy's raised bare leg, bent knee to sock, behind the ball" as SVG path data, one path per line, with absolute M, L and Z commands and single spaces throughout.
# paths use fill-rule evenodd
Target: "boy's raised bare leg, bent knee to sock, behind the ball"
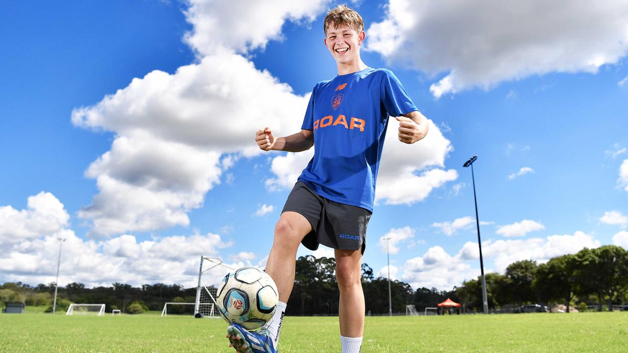
M 312 227 L 303 215 L 283 212 L 275 225 L 273 247 L 266 263 L 266 273 L 279 290 L 279 301 L 288 303 L 295 284 L 296 249 Z

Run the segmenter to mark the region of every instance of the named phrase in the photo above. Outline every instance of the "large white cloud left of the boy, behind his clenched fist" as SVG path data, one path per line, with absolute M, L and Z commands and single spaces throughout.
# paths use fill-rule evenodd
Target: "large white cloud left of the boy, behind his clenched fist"
M 278 134 L 295 131 L 292 117 L 303 114 L 307 99 L 244 57 L 219 53 L 173 75 L 151 72 L 75 109 L 75 125 L 117 134 L 86 172 L 99 194 L 79 216 L 94 222 L 94 236 L 188 225 L 187 212 L 237 159 L 230 155 L 259 153 L 259 116 Z

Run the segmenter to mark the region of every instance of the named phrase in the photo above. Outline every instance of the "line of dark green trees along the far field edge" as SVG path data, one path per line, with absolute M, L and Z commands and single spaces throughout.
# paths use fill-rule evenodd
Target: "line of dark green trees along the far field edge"
M 302 256 L 296 260 L 295 285 L 290 295 L 286 315 L 337 315 L 338 286 L 335 279 L 335 259 Z M 505 308 L 541 303 L 562 303 L 566 310 L 579 304 L 580 308 L 628 302 L 628 251 L 618 246 L 582 249 L 577 254 L 559 256 L 547 263 L 524 260 L 510 264 L 504 274 L 487 273 L 487 299 L 490 308 Z M 388 280 L 376 277 L 368 264 L 362 264 L 362 288 L 366 312 L 372 315 L 388 313 Z M 26 305 L 48 305 L 51 311 L 54 283 L 29 286 L 5 283 L 0 287 L 0 301 L 21 301 Z M 133 287 L 122 283 L 112 286 L 85 288 L 70 283 L 58 288 L 57 310 L 66 310 L 72 303 L 104 303 L 107 312 L 119 309 L 126 313 L 161 310 L 166 301 L 193 303 L 196 288 L 181 285 L 142 285 Z M 394 313 L 403 313 L 406 305 L 422 312 L 426 307 L 451 298 L 462 304 L 463 311 L 482 308 L 480 278 L 467 280 L 451 291 L 436 288 L 413 290 L 408 283 L 391 281 L 391 303 Z M 173 310 L 183 310 L 173 308 Z M 170 309 L 169 309 L 170 312 Z

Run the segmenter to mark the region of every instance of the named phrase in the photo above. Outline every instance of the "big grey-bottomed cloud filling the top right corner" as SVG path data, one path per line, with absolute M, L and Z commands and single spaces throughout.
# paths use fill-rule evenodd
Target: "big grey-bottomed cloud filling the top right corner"
M 428 75 L 438 98 L 548 72 L 597 72 L 628 50 L 628 3 L 390 0 L 367 48 Z M 404 55 L 399 55 L 403 52 Z

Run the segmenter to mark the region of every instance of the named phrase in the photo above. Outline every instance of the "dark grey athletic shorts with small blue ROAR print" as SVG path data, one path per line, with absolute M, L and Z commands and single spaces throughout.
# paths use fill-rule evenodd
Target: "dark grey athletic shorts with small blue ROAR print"
M 281 213 L 286 211 L 303 215 L 310 222 L 313 230 L 301 241 L 308 249 L 316 250 L 323 244 L 333 249 L 361 249 L 364 254 L 371 211 L 328 200 L 303 182 L 296 183 L 288 195 Z

